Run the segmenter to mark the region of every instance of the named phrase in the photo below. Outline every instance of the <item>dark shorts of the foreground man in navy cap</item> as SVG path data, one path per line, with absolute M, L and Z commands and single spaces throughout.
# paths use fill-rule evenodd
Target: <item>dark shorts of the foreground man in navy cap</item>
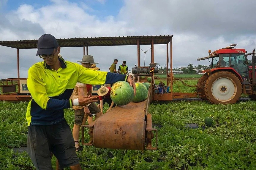
M 51 152 L 61 169 L 79 164 L 74 138 L 66 120 L 53 125 L 28 126 L 27 151 L 36 169 L 52 169 Z

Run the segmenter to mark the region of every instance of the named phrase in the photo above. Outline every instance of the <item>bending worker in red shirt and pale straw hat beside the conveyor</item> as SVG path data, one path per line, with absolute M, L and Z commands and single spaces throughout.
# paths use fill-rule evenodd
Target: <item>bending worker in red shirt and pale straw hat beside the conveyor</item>
M 110 92 L 111 92 L 111 88 L 105 87 L 105 86 L 101 86 L 99 88 L 99 90 L 97 91 L 97 94 L 99 95 L 99 103 L 98 104 L 100 104 L 100 110 L 102 113 L 103 113 L 103 105 L 105 103 L 108 103 L 108 106 L 109 106 L 109 109 L 107 111 L 109 111 L 114 106 L 116 106 L 116 104 L 110 98 Z

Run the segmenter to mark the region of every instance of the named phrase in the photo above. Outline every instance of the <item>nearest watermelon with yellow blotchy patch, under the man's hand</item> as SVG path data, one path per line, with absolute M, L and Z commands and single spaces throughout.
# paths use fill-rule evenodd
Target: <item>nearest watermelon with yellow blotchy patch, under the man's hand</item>
M 110 98 L 119 106 L 126 105 L 132 101 L 134 91 L 128 82 L 118 81 L 111 87 Z

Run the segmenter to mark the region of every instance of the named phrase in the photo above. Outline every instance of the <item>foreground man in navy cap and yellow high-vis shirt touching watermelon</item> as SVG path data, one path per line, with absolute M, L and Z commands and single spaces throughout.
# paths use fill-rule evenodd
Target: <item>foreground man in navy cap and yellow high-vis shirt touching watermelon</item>
M 58 57 L 60 47 L 50 34 L 42 35 L 37 43 L 37 56 L 44 61 L 29 68 L 27 85 L 29 101 L 27 151 L 36 169 L 52 169 L 51 152 L 60 168 L 81 170 L 71 129 L 64 119 L 64 109 L 97 102 L 96 97 L 81 96 L 70 100 L 77 82 L 110 84 L 127 81 L 136 93 L 135 83 L 126 75 L 100 72 Z

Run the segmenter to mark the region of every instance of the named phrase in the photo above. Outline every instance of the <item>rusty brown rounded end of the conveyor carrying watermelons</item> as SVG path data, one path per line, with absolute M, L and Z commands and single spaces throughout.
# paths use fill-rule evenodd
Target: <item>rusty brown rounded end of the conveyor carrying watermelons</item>
M 141 103 L 140 103 L 141 104 Z M 93 129 L 96 148 L 143 150 L 146 122 L 144 113 L 138 114 L 138 103 L 129 107 L 116 106 L 99 117 Z

